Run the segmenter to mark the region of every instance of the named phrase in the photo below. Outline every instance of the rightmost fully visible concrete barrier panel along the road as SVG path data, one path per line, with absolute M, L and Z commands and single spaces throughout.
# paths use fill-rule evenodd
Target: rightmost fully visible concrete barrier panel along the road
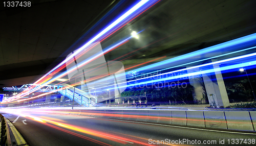
M 248 111 L 225 111 L 227 129 L 253 131 Z

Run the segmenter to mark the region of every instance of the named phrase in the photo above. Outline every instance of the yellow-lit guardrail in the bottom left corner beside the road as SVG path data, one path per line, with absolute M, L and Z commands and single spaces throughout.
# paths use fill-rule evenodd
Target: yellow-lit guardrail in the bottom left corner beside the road
M 28 146 L 27 142 L 24 140 L 22 135 L 17 131 L 14 125 L 6 119 L 2 114 L 0 114 L 0 124 L 1 124 L 1 140 L 0 145 L 23 145 Z

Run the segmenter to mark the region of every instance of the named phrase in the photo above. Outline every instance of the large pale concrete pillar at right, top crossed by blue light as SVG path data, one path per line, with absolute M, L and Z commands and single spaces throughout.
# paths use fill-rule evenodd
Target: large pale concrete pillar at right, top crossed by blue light
M 215 62 L 217 59 L 211 59 L 210 62 Z M 206 67 L 200 67 L 200 69 L 214 69 L 214 72 L 209 74 L 202 74 L 206 93 L 209 103 L 215 107 L 227 107 L 229 106 L 229 100 L 227 96 L 226 87 L 222 78 L 219 64 L 214 64 Z

